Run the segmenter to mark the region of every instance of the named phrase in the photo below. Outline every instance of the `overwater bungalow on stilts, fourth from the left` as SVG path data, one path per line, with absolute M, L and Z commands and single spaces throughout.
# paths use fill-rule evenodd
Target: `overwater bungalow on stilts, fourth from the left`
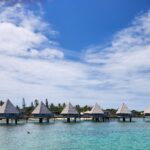
M 96 103 L 93 108 L 90 111 L 90 115 L 92 116 L 92 119 L 99 122 L 100 119 L 104 121 L 104 111 L 101 109 L 101 107 Z

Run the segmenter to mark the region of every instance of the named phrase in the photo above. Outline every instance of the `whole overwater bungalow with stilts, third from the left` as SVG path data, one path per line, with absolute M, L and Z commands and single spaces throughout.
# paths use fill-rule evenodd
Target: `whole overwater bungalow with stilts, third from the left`
M 74 122 L 76 122 L 76 119 L 80 117 L 80 114 L 77 112 L 77 110 L 72 106 L 71 103 L 68 103 L 66 107 L 61 112 L 61 115 L 64 118 L 67 118 L 67 122 L 70 122 L 71 118 L 74 118 Z

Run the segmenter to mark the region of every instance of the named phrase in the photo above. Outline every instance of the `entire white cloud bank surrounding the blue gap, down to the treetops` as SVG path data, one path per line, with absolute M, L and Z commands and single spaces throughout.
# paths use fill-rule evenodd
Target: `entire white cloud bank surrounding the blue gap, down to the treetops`
M 150 12 L 118 32 L 110 47 L 89 48 L 83 63 L 64 57 L 51 40 L 58 32 L 42 20 L 42 14 L 22 4 L 4 4 L 0 4 L 1 98 L 16 104 L 22 97 L 28 103 L 35 98 L 74 104 L 100 101 L 104 107 L 117 107 L 125 99 L 130 104 L 148 102 Z

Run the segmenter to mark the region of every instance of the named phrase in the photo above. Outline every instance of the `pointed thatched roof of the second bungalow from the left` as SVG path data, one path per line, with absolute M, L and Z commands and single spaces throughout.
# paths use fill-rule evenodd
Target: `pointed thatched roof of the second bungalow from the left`
M 47 114 L 50 115 L 52 112 L 45 106 L 43 102 L 38 104 L 38 106 L 33 110 L 32 115 L 40 115 L 40 114 Z

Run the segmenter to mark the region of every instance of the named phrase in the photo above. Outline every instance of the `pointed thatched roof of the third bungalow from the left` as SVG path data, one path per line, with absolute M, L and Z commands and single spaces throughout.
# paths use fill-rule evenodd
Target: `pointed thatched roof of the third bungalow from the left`
M 72 106 L 71 103 L 67 104 L 66 107 L 61 112 L 62 115 L 78 115 L 79 113 L 76 111 L 76 109 Z

